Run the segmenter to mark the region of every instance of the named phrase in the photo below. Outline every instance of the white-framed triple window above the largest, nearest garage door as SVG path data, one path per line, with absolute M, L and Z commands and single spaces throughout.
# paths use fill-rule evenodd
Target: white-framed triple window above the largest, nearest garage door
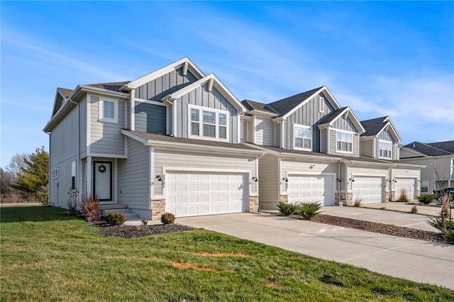
M 189 106 L 189 138 L 227 140 L 228 112 Z

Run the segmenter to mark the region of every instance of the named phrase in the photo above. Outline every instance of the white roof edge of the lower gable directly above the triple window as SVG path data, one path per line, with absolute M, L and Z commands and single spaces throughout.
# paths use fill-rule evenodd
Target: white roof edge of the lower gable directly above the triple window
M 173 92 L 172 94 L 167 94 L 167 96 L 164 96 L 161 99 L 161 101 L 164 101 L 164 102 L 165 101 L 170 101 L 170 102 L 175 101 L 179 97 L 184 96 L 184 94 L 188 94 L 190 91 L 193 91 L 194 89 L 197 89 L 206 83 L 208 83 L 209 91 L 211 91 L 211 88 L 210 88 L 211 86 L 215 86 L 216 89 L 218 89 L 221 92 L 221 94 L 223 94 L 223 96 L 227 97 L 228 101 L 230 101 L 233 106 L 240 109 L 240 111 L 243 113 L 247 111 L 245 106 L 243 106 L 243 104 L 241 104 L 241 102 L 236 98 L 236 96 L 234 96 L 231 93 L 231 91 L 228 90 L 227 87 L 224 86 L 221 83 L 221 81 L 219 81 L 219 79 L 214 74 L 209 74 L 206 77 L 203 77 L 203 78 L 199 79 L 198 81 L 196 81 L 192 84 L 189 84 L 188 86 L 184 86 L 182 89 L 179 89 L 179 90 Z

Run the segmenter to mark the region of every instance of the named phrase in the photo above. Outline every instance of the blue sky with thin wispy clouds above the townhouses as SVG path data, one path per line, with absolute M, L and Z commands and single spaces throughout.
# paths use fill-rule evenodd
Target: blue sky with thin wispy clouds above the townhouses
M 48 150 L 57 86 L 190 57 L 238 99 L 326 85 L 404 143 L 454 140 L 454 2 L 1 2 L 1 162 Z M 68 139 L 75 139 L 68 134 Z

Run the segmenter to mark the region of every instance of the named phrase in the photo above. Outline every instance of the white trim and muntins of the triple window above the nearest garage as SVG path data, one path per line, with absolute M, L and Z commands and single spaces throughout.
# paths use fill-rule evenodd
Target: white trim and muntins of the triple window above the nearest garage
M 187 105 L 187 109 L 188 109 L 187 110 L 187 114 L 188 114 L 188 117 L 187 117 L 187 121 L 188 121 L 187 137 L 188 138 L 195 138 L 197 140 L 215 140 L 215 141 L 218 141 L 218 142 L 228 142 L 229 141 L 228 140 L 229 135 L 230 135 L 229 120 L 230 120 L 231 116 L 230 116 L 230 113 L 228 111 L 221 110 L 221 109 L 214 109 L 214 108 L 204 107 L 204 106 L 197 106 L 197 105 L 192 105 L 192 104 L 188 104 Z M 192 111 L 192 109 L 195 109 L 195 110 L 199 111 L 199 121 L 198 122 L 195 122 L 195 121 L 193 122 L 192 119 L 191 119 L 191 116 L 192 116 L 191 111 Z M 211 136 L 205 136 L 204 135 L 204 111 L 216 113 L 215 114 L 215 123 L 214 124 L 206 123 L 207 125 L 214 125 L 214 127 L 215 127 L 214 128 L 215 129 L 214 138 L 211 137 Z M 226 125 L 220 125 L 219 124 L 219 114 L 225 114 L 226 115 Z M 192 134 L 192 123 L 199 123 L 199 135 Z M 225 127 L 226 128 L 226 138 L 219 138 L 219 128 L 220 127 Z M 237 133 L 237 134 L 239 134 L 239 133 Z

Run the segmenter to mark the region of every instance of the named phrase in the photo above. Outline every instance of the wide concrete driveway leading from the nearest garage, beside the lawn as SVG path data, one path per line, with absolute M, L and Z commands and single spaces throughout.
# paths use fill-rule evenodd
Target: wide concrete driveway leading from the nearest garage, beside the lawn
M 176 222 L 454 289 L 453 245 L 260 213 L 177 218 Z

